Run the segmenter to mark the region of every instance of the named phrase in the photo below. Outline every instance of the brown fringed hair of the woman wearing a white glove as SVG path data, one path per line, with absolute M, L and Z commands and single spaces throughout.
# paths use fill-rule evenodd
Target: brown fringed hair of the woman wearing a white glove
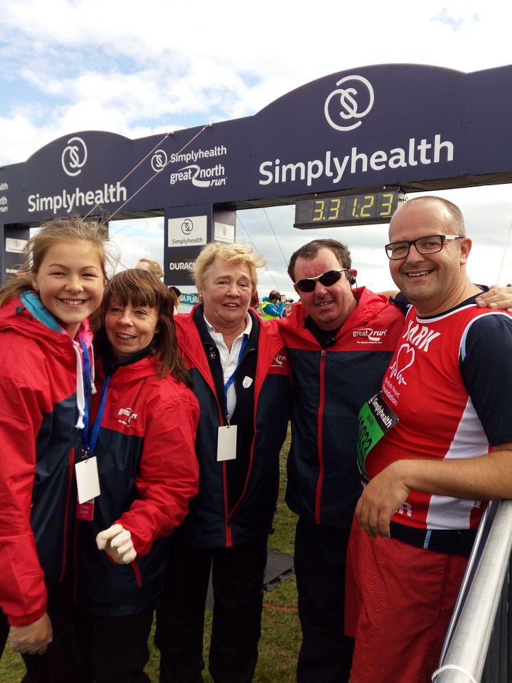
M 101 327 L 97 332 L 95 345 L 100 353 L 108 349 L 105 329 L 105 314 L 110 301 L 115 299 L 121 305 L 154 308 L 159 332 L 154 334 L 152 347 L 158 359 L 158 374 L 161 377 L 172 375 L 176 380 L 190 383 L 183 361 L 178 356 L 176 327 L 174 326 L 174 298 L 159 279 L 148 270 L 130 268 L 116 273 L 108 281 L 100 309 Z

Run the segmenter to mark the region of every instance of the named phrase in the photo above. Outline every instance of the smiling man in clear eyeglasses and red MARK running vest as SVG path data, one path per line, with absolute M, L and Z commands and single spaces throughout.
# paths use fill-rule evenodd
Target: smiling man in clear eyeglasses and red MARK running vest
M 486 501 L 512 497 L 512 316 L 477 308 L 452 202 L 409 200 L 389 238 L 413 308 L 360 412 L 369 483 L 347 564 L 351 683 L 430 682 Z

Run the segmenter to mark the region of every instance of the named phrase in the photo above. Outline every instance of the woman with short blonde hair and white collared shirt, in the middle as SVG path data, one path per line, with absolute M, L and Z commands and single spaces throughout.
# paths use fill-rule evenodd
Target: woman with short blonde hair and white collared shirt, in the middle
M 244 244 L 208 244 L 194 270 L 200 303 L 175 317 L 178 347 L 201 406 L 200 486 L 173 533 L 173 561 L 157 610 L 161 682 L 202 680 L 210 570 L 213 680 L 246 683 L 255 671 L 267 539 L 290 411 L 279 330 L 249 308 L 263 265 Z

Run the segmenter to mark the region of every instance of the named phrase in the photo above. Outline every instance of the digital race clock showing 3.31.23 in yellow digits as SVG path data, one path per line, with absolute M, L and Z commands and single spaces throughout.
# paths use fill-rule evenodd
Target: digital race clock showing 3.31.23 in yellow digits
M 388 223 L 404 200 L 399 189 L 364 194 L 318 195 L 295 204 L 294 228 L 325 228 L 354 223 Z

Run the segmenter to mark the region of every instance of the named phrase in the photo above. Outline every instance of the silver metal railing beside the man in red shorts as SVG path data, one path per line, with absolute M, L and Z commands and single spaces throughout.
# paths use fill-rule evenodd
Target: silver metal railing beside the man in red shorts
M 435 683 L 512 683 L 511 546 L 512 500 L 493 500 L 478 529 Z

